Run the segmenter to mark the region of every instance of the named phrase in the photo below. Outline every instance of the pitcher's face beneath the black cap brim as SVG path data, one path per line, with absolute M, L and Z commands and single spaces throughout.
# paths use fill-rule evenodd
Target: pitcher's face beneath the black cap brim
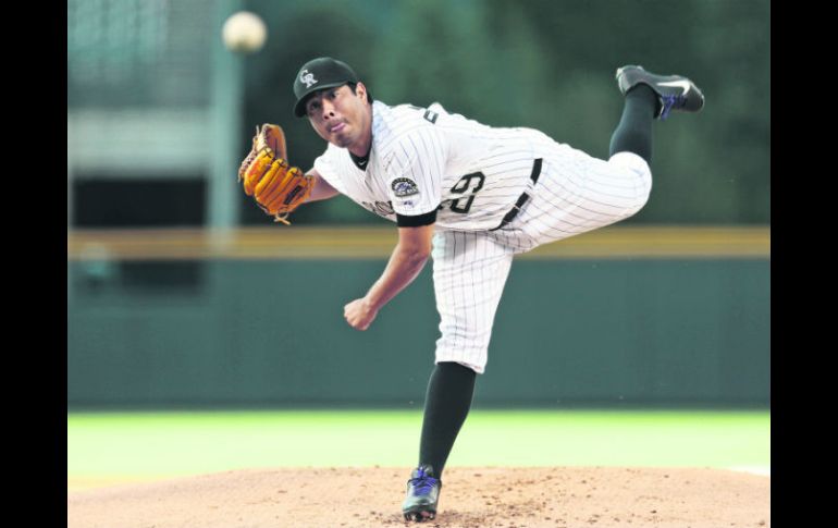
M 315 94 L 306 102 L 311 126 L 320 137 L 356 156 L 369 150 L 372 109 L 367 103 L 367 88 L 358 83 L 353 94 L 346 85 Z

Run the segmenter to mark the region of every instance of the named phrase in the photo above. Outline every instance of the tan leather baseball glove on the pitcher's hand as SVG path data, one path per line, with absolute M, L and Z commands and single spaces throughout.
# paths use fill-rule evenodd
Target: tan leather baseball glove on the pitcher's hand
M 311 194 L 315 179 L 296 167 L 289 167 L 285 133 L 279 125 L 257 126 L 250 152 L 238 168 L 238 180 L 245 194 L 275 221 L 289 223 L 287 216 Z

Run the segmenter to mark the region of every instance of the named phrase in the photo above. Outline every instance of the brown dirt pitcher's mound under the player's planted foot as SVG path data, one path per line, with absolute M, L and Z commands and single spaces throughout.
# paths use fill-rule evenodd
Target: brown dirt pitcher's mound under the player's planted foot
M 248 469 L 67 493 L 69 528 L 412 526 L 411 468 Z M 724 469 L 449 467 L 426 527 L 771 526 L 771 477 Z

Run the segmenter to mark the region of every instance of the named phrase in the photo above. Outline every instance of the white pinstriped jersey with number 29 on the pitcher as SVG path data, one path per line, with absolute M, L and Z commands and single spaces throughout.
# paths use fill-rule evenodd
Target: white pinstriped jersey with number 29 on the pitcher
M 340 193 L 395 221 L 439 209 L 441 228 L 496 228 L 532 172 L 533 146 L 552 143 L 532 128 L 496 128 L 451 114 L 439 103 L 372 103 L 372 146 L 366 170 L 329 144 L 315 170 Z

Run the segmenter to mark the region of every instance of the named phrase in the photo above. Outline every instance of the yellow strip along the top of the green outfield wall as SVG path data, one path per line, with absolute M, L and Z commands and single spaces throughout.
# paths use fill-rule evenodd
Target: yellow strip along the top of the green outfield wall
M 397 231 L 283 225 L 237 230 L 67 231 L 67 260 L 384 259 Z M 525 259 L 771 258 L 771 229 L 606 228 L 541 246 Z

